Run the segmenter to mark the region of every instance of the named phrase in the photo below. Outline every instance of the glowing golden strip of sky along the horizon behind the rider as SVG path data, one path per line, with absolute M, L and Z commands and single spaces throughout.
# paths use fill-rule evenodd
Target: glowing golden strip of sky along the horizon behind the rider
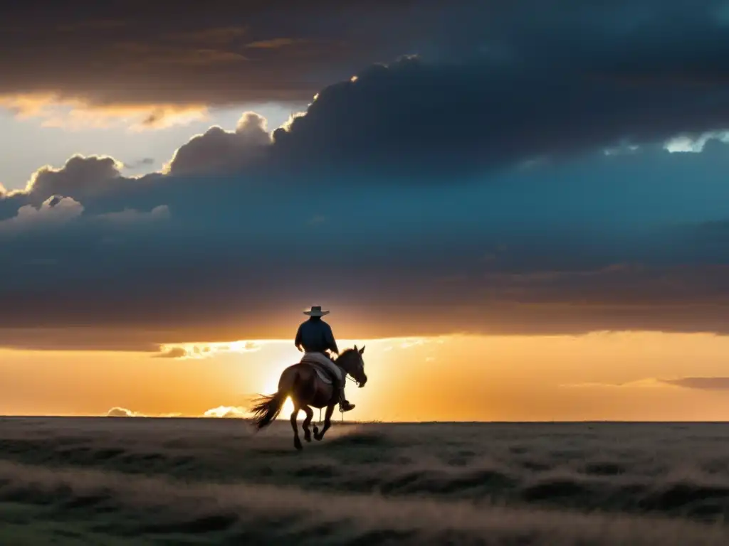
M 347 384 L 348 400 L 356 405 L 347 419 L 729 419 L 728 336 L 624 332 L 338 341 L 342 349 L 367 346 L 369 381 L 362 389 Z M 275 393 L 281 372 L 301 357 L 290 340 L 166 348 L 174 347 L 185 350 L 150 355 L 0 349 L 0 414 L 99 416 L 125 408 L 135 416 L 249 416 L 255 395 Z M 286 400 L 278 419 L 286 422 L 292 411 Z M 318 410 L 313 417 L 319 422 Z

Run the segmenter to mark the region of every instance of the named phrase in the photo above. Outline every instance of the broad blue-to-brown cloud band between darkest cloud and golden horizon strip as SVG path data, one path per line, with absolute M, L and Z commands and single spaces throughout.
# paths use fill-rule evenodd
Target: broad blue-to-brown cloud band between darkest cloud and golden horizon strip
M 715 235 L 727 217 L 725 149 L 592 154 L 483 183 L 449 178 L 455 187 L 380 180 L 378 191 L 367 176 L 321 187 L 306 169 L 278 186 L 244 165 L 134 179 L 98 168 L 112 159 L 75 158 L 78 184 L 44 171 L 47 186 L 0 202 L 41 215 L 22 199 L 46 187 L 74 196 L 46 207 L 82 207 L 72 222 L 4 239 L 0 304 L 13 312 L 0 317 L 0 344 L 154 351 L 286 338 L 311 304 L 334 307 L 338 336 L 355 339 L 727 333 L 729 240 Z M 175 161 L 186 157 L 221 172 L 205 146 L 183 146 Z

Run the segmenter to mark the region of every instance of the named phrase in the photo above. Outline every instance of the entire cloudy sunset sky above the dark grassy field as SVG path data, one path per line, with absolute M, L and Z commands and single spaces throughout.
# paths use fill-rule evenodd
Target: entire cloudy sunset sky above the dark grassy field
M 245 414 L 321 305 L 352 419 L 729 419 L 729 2 L 71 4 L 0 21 L 0 414 Z

